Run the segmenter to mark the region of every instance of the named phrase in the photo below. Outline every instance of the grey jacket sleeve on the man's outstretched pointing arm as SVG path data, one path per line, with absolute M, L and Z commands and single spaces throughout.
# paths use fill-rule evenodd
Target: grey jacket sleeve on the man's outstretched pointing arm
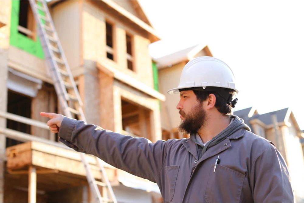
M 65 117 L 59 129 L 60 141 L 68 147 L 92 154 L 106 163 L 155 182 L 167 155 L 168 141 L 151 143 L 96 125 Z

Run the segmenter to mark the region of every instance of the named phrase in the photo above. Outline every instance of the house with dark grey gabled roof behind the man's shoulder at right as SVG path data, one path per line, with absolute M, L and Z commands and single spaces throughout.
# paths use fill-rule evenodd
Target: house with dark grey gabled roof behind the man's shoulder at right
M 297 201 L 304 202 L 304 133 L 290 108 L 265 114 L 258 114 L 256 108 L 250 107 L 234 112 L 234 115 L 244 119 L 253 133 L 270 140 L 284 157 Z

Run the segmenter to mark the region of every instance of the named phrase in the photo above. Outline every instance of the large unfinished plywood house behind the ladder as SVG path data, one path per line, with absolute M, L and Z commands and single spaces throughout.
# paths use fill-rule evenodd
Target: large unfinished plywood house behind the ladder
M 159 101 L 165 97 L 154 90 L 148 52 L 160 37 L 139 2 L 52 0 L 48 6 L 88 123 L 153 142 L 162 139 Z M 23 132 L 57 142 L 39 113 L 62 110 L 28 0 L 0 1 L 0 33 L 0 202 L 26 201 L 29 167 L 38 174 L 37 202 L 93 201 L 78 153 L 5 137 Z M 5 159 L 15 165 L 5 165 Z M 105 168 L 119 202 L 162 202 L 156 184 Z

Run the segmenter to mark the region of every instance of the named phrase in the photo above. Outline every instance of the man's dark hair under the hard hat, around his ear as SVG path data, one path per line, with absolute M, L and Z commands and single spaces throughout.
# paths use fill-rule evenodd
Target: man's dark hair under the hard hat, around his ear
M 208 87 L 204 91 L 200 90 L 193 90 L 193 88 L 185 88 L 180 89 L 180 91 L 187 91 L 192 90 L 196 96 L 196 100 L 202 103 L 203 101 L 206 101 L 206 99 L 209 97 L 210 94 L 214 94 L 216 101 L 215 101 L 215 107 L 216 109 L 222 113 L 223 115 L 233 115 L 232 107 L 227 102 L 226 99 L 224 99 L 222 96 L 219 95 L 216 91 L 208 91 Z M 226 91 L 229 94 L 236 95 L 236 91 L 233 89 L 228 88 L 222 88 L 223 91 Z

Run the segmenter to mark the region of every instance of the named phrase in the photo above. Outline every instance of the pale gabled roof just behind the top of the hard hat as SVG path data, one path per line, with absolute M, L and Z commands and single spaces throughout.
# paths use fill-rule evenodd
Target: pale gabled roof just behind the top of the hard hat
M 193 59 L 197 53 L 205 48 L 208 49 L 206 51 L 208 52 L 207 55 L 212 56 L 208 46 L 205 43 L 200 43 L 182 50 L 178 50 L 160 58 L 153 58 L 153 60 L 157 63 L 158 68 L 164 68 L 168 66 L 170 67 L 171 65 L 178 64 L 182 61 L 189 61 Z

